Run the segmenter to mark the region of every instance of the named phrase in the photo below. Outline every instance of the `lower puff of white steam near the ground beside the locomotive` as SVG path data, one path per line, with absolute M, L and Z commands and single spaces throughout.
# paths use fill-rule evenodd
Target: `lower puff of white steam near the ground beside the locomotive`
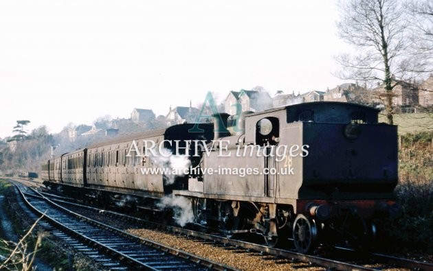
M 190 200 L 179 196 L 165 196 L 157 203 L 159 208 L 173 209 L 174 219 L 180 226 L 194 222 L 194 213 L 192 212 L 192 203 Z

